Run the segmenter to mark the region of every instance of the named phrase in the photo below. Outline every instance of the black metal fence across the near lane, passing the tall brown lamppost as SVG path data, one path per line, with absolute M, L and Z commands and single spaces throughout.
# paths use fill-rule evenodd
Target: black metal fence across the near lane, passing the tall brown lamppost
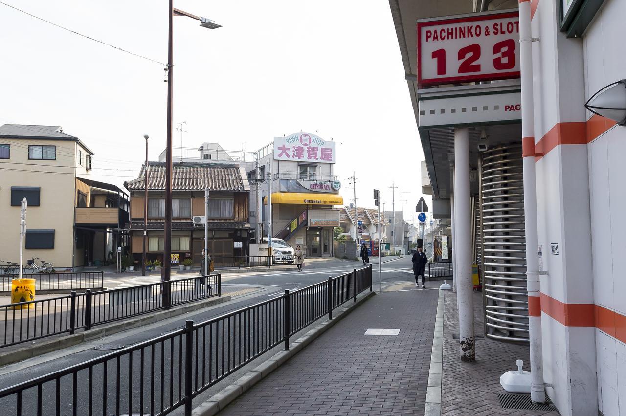
M 215 274 L 0 305 L 0 348 L 218 297 L 221 282 L 222 276 Z

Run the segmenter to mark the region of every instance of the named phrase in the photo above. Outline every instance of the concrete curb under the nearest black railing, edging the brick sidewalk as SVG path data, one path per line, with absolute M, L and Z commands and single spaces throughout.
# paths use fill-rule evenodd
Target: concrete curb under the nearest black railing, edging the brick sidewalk
M 260 382 L 263 378 L 267 377 L 274 370 L 280 367 L 283 363 L 287 362 L 289 358 L 294 357 L 297 353 L 302 351 L 307 345 L 316 340 L 320 335 L 331 328 L 335 323 L 339 322 L 342 318 L 346 317 L 352 310 L 361 306 L 363 302 L 376 295 L 376 292 L 367 292 L 366 295 L 357 298 L 356 303 L 350 303 L 347 306 L 339 308 L 336 311 L 337 316 L 332 320 L 325 320 L 317 327 L 313 328 L 309 332 L 302 335 L 294 342 L 289 344 L 289 350 L 282 350 L 269 358 L 254 370 L 250 370 L 244 376 L 240 377 L 231 385 L 223 388 L 220 392 L 210 397 L 204 403 L 198 405 L 193 409 L 193 416 L 213 416 L 227 407 L 233 400 L 244 394 L 246 390 L 249 390 L 256 383 Z M 442 315 L 443 316 L 443 315 Z

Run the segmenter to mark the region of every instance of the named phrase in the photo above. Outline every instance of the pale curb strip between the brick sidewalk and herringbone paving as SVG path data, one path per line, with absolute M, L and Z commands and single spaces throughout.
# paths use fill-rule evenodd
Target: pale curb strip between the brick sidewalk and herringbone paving
M 439 289 L 437 317 L 434 322 L 433 349 L 426 388 L 424 416 L 441 416 L 441 378 L 443 376 L 443 305 L 444 291 Z

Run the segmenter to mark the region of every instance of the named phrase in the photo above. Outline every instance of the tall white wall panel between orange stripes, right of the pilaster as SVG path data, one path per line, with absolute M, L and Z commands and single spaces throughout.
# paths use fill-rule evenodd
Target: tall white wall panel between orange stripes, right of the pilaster
M 591 197 L 593 294 L 595 304 L 614 308 L 612 216 L 608 189 L 608 150 L 605 136 L 589 146 L 589 183 Z

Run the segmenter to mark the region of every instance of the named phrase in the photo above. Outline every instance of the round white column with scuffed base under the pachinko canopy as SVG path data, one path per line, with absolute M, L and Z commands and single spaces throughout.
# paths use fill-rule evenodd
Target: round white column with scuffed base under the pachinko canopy
M 471 198 L 469 196 L 469 129 L 454 129 L 454 228 L 456 298 L 459 308 L 461 360 L 476 358 L 472 283 Z

